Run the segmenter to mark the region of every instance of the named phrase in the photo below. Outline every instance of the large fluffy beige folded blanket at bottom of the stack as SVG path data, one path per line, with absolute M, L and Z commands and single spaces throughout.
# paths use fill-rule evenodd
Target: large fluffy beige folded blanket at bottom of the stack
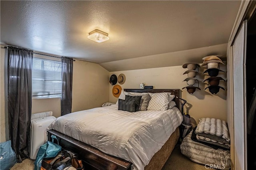
M 191 139 L 193 130 L 182 140 L 180 144 L 181 153 L 190 160 L 205 165 L 214 165 L 217 169 L 229 170 L 230 152 L 228 150 L 214 149 L 205 144 L 195 142 Z

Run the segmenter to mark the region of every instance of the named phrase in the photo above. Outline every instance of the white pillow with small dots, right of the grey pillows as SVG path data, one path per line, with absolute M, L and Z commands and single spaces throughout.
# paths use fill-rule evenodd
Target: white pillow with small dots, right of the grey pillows
M 170 93 L 152 93 L 148 110 L 166 111 L 170 102 Z

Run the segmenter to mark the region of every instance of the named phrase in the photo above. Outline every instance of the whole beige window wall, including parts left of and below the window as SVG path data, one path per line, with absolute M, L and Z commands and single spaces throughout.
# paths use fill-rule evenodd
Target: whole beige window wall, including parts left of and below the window
M 5 49 L 1 45 L 0 56 L 0 140 L 4 142 L 8 138 L 8 113 L 5 102 L 5 83 L 4 83 L 4 55 Z M 74 61 L 73 67 L 73 95 L 72 112 L 93 107 L 100 107 L 103 103 L 109 101 L 109 72 L 99 64 L 86 61 Z M 60 116 L 60 98 L 54 99 L 32 99 L 32 113 L 53 111 L 55 117 Z

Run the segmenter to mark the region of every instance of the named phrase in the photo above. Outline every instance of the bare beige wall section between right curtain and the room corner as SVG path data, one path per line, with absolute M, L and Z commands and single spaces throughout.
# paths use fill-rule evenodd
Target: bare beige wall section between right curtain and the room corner
M 109 72 L 99 64 L 76 60 L 72 112 L 100 107 L 109 99 Z

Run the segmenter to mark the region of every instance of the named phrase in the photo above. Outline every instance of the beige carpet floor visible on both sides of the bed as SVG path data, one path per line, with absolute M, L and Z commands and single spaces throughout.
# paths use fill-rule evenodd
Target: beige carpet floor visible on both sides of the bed
M 192 162 L 180 152 L 177 144 L 168 158 L 162 170 L 206 170 L 204 165 Z M 16 163 L 10 170 L 34 170 L 34 160 L 25 159 L 21 163 Z

